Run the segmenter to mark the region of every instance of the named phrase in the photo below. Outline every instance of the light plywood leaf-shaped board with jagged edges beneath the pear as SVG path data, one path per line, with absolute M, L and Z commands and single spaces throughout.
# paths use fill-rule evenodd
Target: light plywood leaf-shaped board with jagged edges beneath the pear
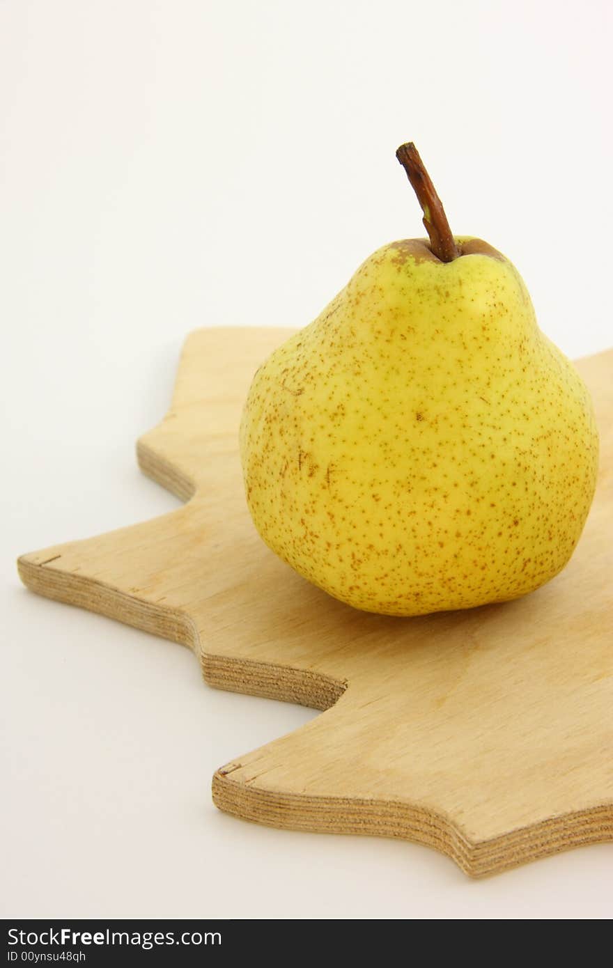
M 293 830 L 403 837 L 478 876 L 613 838 L 613 351 L 581 360 L 602 441 L 565 571 L 505 605 L 368 615 L 262 544 L 237 427 L 289 336 L 202 329 L 141 469 L 187 503 L 19 560 L 32 590 L 189 645 L 209 685 L 325 710 L 213 777 L 229 813 Z

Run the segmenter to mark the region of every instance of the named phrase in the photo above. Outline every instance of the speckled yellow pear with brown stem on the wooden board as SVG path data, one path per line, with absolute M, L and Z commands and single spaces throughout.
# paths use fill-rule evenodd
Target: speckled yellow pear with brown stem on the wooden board
M 240 429 L 265 543 L 355 608 L 517 598 L 564 568 L 594 496 L 588 391 L 510 261 L 453 237 L 413 144 L 429 239 L 383 246 L 258 370 Z

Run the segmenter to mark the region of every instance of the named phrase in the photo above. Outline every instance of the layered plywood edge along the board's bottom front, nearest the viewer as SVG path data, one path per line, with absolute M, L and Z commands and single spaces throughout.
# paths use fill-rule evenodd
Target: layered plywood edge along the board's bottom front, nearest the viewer
M 605 843 L 613 835 L 613 805 L 568 813 L 492 840 L 472 841 L 459 825 L 418 805 L 264 789 L 232 777 L 240 763 L 213 776 L 220 810 L 266 827 L 317 833 L 394 837 L 433 847 L 470 877 L 501 873 L 573 847 Z

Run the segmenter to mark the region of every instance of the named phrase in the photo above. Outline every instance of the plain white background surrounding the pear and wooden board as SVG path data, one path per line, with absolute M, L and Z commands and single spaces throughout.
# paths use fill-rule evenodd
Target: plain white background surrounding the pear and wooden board
M 422 234 L 403 140 L 568 355 L 610 344 L 612 11 L 0 3 L 2 915 L 613 913 L 610 846 L 471 882 L 414 844 L 219 813 L 215 768 L 315 713 L 207 689 L 188 650 L 15 575 L 18 553 L 176 505 L 133 447 L 189 330 L 306 324 L 372 250 Z

